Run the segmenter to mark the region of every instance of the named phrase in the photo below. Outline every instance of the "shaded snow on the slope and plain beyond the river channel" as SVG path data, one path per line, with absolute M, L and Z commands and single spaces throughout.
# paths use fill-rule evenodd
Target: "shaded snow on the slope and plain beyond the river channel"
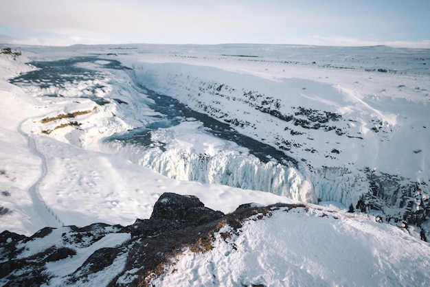
M 248 59 L 223 56 L 241 55 L 226 53 L 243 49 L 239 46 L 212 47 L 203 54 L 204 49 L 190 47 L 170 57 L 133 54 L 121 59 L 133 67 L 135 81 L 148 89 L 174 95 L 220 119 L 248 122 L 236 130 L 259 141 L 271 145 L 278 145 L 280 139 L 289 141 L 288 152 L 313 167 L 312 172 L 306 166 L 298 170 L 313 185 L 307 192 L 309 201 L 319 198 L 357 205 L 370 188 L 363 168 L 429 185 L 429 69 L 422 62 L 428 59 L 428 51 L 290 46 L 268 51 L 256 46 L 246 51 L 260 58 Z M 312 53 L 306 54 L 308 49 Z M 378 71 L 381 67 L 386 71 Z M 243 97 L 249 91 L 280 100 L 285 113 L 291 106 L 305 106 L 342 115 L 344 120 L 333 124 L 346 136 L 306 129 L 291 136 L 289 131 L 297 130 L 293 124 L 250 112 L 249 98 Z

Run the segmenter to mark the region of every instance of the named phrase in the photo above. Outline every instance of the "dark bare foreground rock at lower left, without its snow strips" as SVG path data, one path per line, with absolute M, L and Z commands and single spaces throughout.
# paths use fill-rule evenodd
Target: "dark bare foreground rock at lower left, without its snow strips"
M 220 211 L 205 207 L 196 196 L 166 193 L 155 203 L 150 219 L 137 219 L 128 227 L 94 223 L 87 227 L 61 227 L 62 230 L 55 233 L 56 229 L 45 227 L 30 238 L 3 231 L 0 233 L 0 284 L 49 284 L 54 275 L 47 273 L 47 262 L 62 264 L 61 260 L 77 254 L 76 249 L 92 246 L 111 233 L 131 233 L 132 238 L 115 248 L 95 249 L 81 266 L 67 275 L 65 282 L 88 282 L 89 277 L 111 266 L 120 256 L 126 256 L 126 269 L 117 272 L 123 275 L 126 271 L 136 270 L 142 281 L 148 274 L 159 273 L 160 266 L 168 262 L 170 255 L 181 252 L 183 246 L 192 246 L 196 251 L 211 249 L 212 234 L 224 216 Z M 47 236 L 49 240 L 44 242 Z M 53 242 L 53 238 L 58 242 Z M 34 240 L 47 246 L 34 254 L 26 245 Z M 126 285 L 136 286 L 138 281 L 136 277 Z M 121 285 L 114 282 L 115 279 L 113 286 Z

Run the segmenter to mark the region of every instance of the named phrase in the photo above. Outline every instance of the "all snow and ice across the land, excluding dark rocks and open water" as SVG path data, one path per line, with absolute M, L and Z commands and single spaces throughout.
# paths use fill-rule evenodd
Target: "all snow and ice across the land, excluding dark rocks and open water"
M 170 272 L 153 283 L 426 286 L 429 282 L 430 249 L 414 238 L 420 236 L 418 229 L 409 227 L 410 236 L 405 229 L 376 223 L 375 218 L 342 213 L 369 190 L 363 168 L 430 184 L 428 50 L 283 45 L 22 49 L 23 56 L 16 60 L 0 54 L 0 187 L 5 192 L 0 206 L 12 210 L 1 216 L 0 231 L 30 236 L 46 226 L 59 228 L 26 242 L 21 256 L 55 245 L 69 229 L 62 225 L 131 225 L 136 218 L 149 218 L 163 192 L 195 195 L 205 206 L 225 213 L 243 203 L 321 200 L 328 209 L 309 205 L 308 210 L 273 211 L 270 218 L 245 223 L 227 241 L 218 235 L 212 251 L 185 250 Z M 107 55 L 115 52 L 117 56 Z M 29 58 L 61 60 L 94 54 L 100 56 L 76 65 L 97 71 L 93 78 L 63 84 L 44 79 L 43 87 L 30 81 L 18 87 L 7 81 L 34 70 L 25 64 Z M 113 60 L 133 70 L 106 69 Z M 378 71 L 382 68 L 387 71 Z M 68 73 L 56 75 L 57 80 Z M 218 119 L 248 122 L 234 128 L 271 146 L 287 139 L 292 146 L 286 155 L 298 163 L 280 165 L 272 157 L 260 161 L 247 148 L 207 133 L 195 117 L 152 130 L 155 143 L 149 148 L 104 141 L 164 119 L 150 107 L 154 101 L 146 89 L 170 95 L 201 113 L 211 113 L 203 108 L 210 107 Z M 273 97 L 273 105 L 279 100 L 280 111 L 286 114 L 295 115 L 299 106 L 339 114 L 345 120 L 332 124 L 350 137 L 324 130 L 302 129 L 302 134 L 294 134 L 299 128 L 291 122 L 257 113 L 245 102 L 249 100 L 245 93 L 250 92 Z M 98 104 L 100 99 L 106 102 Z M 65 116 L 71 113 L 76 116 Z M 46 118 L 52 121 L 43 123 Z M 204 164 L 202 154 L 207 157 Z M 429 230 L 429 222 L 422 227 Z M 109 234 L 76 249 L 78 254 L 62 264 L 47 263 L 49 272 L 59 276 L 49 283 L 61 285 L 95 249 L 114 247 L 129 238 L 127 233 Z M 122 271 L 125 260 L 120 255 L 77 286 L 108 284 Z M 127 271 L 118 282 L 131 282 L 137 271 Z

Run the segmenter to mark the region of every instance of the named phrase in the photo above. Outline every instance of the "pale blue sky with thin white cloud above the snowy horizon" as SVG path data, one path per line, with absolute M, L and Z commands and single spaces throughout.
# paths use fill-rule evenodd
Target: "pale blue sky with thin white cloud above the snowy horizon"
M 429 0 L 0 0 L 0 43 L 430 47 Z

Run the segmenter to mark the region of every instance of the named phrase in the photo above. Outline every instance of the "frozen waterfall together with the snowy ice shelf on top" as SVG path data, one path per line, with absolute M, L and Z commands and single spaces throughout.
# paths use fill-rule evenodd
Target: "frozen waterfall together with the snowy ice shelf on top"
M 182 122 L 172 128 L 156 130 L 151 139 L 162 143 L 163 150 L 115 143 L 109 143 L 103 150 L 120 154 L 173 179 L 219 183 L 317 202 L 312 198 L 312 187 L 295 168 L 274 161 L 262 163 L 250 156 L 247 149 L 207 135 L 199 128 L 199 122 Z

